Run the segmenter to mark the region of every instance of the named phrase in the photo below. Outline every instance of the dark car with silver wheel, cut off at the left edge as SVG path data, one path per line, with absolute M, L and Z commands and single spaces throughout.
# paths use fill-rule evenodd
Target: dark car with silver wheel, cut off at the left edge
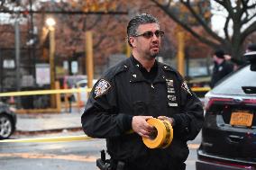
M 14 133 L 15 126 L 14 109 L 0 102 L 0 139 L 8 139 Z

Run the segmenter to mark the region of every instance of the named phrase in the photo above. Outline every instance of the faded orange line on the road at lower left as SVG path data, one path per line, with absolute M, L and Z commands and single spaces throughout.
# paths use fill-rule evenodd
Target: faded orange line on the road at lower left
M 77 156 L 77 155 L 54 155 L 54 154 L 39 154 L 39 153 L 0 153 L 0 157 L 22 157 L 28 159 L 63 159 L 79 162 L 96 162 L 97 157 L 92 156 Z

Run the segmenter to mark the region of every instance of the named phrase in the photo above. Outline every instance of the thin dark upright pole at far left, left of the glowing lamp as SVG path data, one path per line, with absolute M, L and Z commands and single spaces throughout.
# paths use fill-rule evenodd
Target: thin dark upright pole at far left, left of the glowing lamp
M 18 19 L 14 22 L 15 27 L 15 60 L 16 60 L 16 91 L 21 91 L 21 74 L 20 74 L 20 26 Z M 21 97 L 17 96 L 17 108 L 21 106 Z

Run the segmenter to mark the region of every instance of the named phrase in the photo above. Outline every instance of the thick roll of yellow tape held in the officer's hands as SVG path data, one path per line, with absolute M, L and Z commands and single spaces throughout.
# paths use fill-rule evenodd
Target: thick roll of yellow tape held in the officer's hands
M 162 121 L 156 118 L 147 121 L 156 128 L 156 133 L 150 139 L 142 138 L 148 148 L 167 148 L 173 139 L 173 129 L 169 121 Z

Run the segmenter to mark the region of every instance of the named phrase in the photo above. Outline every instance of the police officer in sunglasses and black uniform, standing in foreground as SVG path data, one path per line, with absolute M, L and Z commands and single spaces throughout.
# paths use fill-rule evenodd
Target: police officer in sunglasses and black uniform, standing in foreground
M 106 139 L 112 169 L 119 162 L 125 170 L 185 169 L 187 140 L 195 139 L 201 130 L 201 102 L 174 68 L 155 59 L 163 35 L 151 14 L 133 17 L 127 26 L 131 58 L 109 68 L 87 101 L 83 130 L 90 137 Z M 154 131 L 147 122 L 152 117 L 172 124 L 174 138 L 168 148 L 143 144 L 142 137 L 150 138 Z

